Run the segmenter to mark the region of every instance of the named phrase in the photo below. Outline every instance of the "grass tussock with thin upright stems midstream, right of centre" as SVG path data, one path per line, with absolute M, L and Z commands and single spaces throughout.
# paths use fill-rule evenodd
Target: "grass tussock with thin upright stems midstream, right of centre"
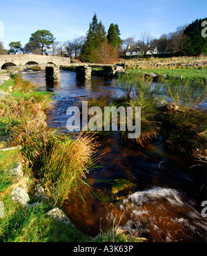
M 123 79 L 124 77 L 124 79 Z M 146 80 L 144 75 L 139 73 L 126 73 L 118 77 L 118 83 L 127 98 L 128 106 L 141 107 L 141 136 L 136 138 L 139 145 L 157 138 L 159 133 L 159 125 L 156 121 L 157 104 L 161 101 L 161 88 L 158 84 L 152 83 L 152 80 Z M 135 115 L 133 122 L 135 122 Z M 128 131 L 122 131 L 122 136 L 126 139 Z

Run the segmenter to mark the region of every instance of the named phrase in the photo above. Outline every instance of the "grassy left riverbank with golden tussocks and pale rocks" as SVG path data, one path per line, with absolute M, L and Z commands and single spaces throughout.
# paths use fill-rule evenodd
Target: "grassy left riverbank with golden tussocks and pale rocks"
M 33 85 L 20 77 L 6 81 L 0 90 L 0 241 L 143 241 L 116 229 L 90 237 L 70 221 L 48 217 L 46 213 L 54 208 L 63 210 L 66 196 L 81 190 L 84 172 L 93 162 L 95 145 L 90 137 L 74 140 L 48 127 L 51 93 L 34 91 Z M 60 163 L 65 165 L 66 158 L 75 152 L 75 158 L 68 162 L 73 178 L 66 172 L 54 176 Z M 41 190 L 43 197 L 36 194 L 39 185 L 45 189 Z M 62 219 L 66 220 L 66 216 Z

